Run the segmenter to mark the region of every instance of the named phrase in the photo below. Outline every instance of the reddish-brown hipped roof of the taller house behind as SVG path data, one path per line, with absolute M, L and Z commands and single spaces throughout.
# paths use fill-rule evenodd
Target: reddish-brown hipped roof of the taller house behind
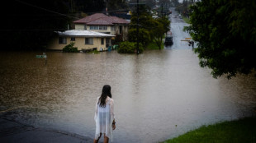
M 87 25 L 114 25 L 114 24 L 129 24 L 130 21 L 126 21 L 116 16 L 106 16 L 103 13 L 95 13 L 91 16 L 86 16 L 78 21 L 73 21 L 75 24 L 87 24 Z

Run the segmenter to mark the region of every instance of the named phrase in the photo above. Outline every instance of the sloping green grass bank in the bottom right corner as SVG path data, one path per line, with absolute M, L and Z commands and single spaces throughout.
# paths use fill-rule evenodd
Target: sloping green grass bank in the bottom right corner
M 164 143 L 256 143 L 256 118 L 203 126 Z

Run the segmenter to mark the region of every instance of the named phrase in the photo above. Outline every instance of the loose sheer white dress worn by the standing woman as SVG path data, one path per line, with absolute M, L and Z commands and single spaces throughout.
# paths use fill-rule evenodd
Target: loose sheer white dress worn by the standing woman
M 113 139 L 112 122 L 114 120 L 114 100 L 107 96 L 106 107 L 100 107 L 98 99 L 96 102 L 96 111 L 94 120 L 96 122 L 95 139 L 97 140 L 100 133 L 105 134 L 110 141 Z

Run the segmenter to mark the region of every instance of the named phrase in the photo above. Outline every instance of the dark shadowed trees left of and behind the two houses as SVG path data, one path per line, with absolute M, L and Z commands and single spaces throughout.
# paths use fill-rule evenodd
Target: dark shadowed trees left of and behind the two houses
M 125 7 L 120 0 L 9 0 L 1 4 L 1 50 L 35 51 L 45 47 L 55 31 L 68 30 L 81 18 L 78 13 L 92 14 Z M 117 5 L 118 3 L 118 5 Z M 68 27 L 69 26 L 69 27 Z

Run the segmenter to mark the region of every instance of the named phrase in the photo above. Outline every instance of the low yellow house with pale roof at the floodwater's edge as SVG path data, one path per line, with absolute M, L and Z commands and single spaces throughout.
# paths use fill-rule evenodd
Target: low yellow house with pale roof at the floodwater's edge
M 57 32 L 58 36 L 53 39 L 47 49 L 62 50 L 71 42 L 79 51 L 94 50 L 103 51 L 111 46 L 111 38 L 115 35 L 103 34 L 90 30 L 66 30 Z

